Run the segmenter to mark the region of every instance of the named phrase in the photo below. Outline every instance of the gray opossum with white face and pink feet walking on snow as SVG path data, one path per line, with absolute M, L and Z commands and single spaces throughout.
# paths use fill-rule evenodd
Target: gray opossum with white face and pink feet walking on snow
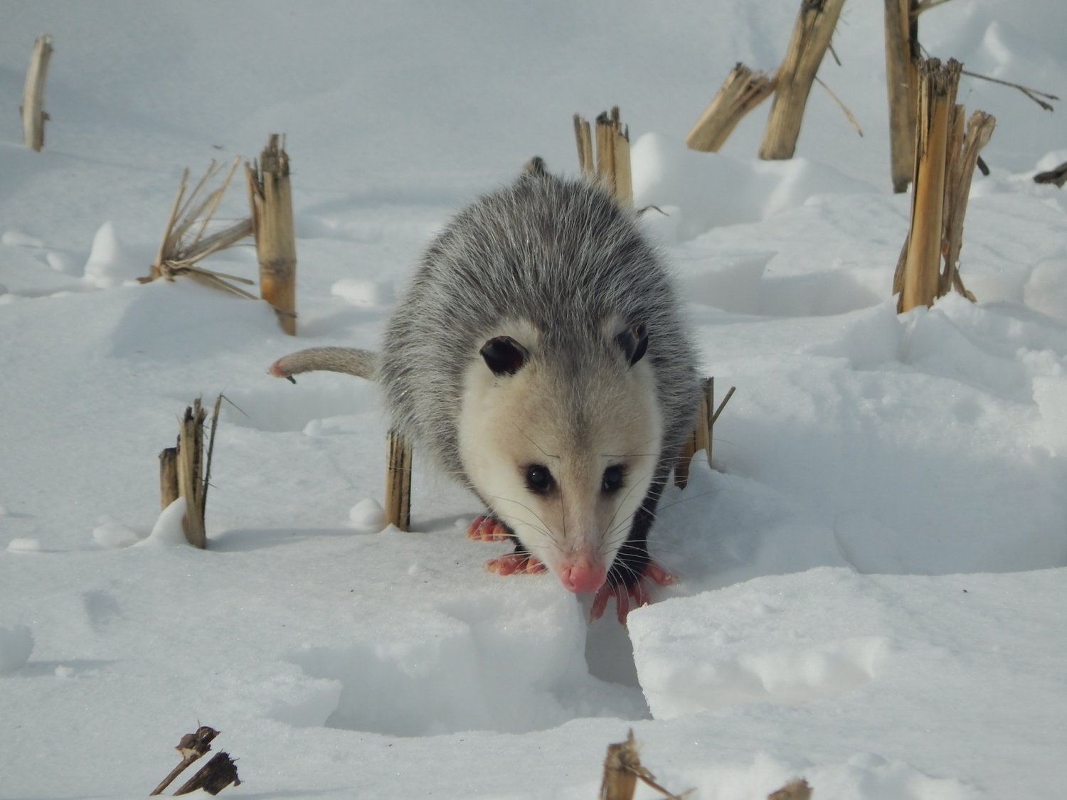
M 547 566 L 625 621 L 642 579 L 672 580 L 647 539 L 692 430 L 696 351 L 634 212 L 531 163 L 430 242 L 380 353 L 313 348 L 271 372 L 378 380 L 394 428 L 489 509 L 467 534 L 514 540 L 489 569 Z

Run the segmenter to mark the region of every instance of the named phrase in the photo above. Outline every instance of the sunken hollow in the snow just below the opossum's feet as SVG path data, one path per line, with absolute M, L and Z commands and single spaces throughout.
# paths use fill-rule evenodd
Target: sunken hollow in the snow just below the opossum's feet
M 323 715 L 327 727 L 434 736 L 526 733 L 583 717 L 649 717 L 639 688 L 590 674 L 586 623 L 570 597 L 544 593 L 527 599 L 501 609 L 492 596 L 465 598 L 462 607 L 431 613 L 417 633 L 398 630 L 347 647 L 307 647 L 286 660 L 339 687 L 335 707 Z M 272 716 L 315 724 L 298 711 L 278 709 Z

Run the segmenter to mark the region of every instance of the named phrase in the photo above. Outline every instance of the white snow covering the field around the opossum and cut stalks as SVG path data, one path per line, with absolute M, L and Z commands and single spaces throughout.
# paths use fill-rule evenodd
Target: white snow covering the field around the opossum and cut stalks
M 846 3 L 842 66 L 797 158 L 682 143 L 735 61 L 769 69 L 796 7 L 315 4 L 0 6 L 0 96 L 55 52 L 45 150 L 0 117 L 0 795 L 143 797 L 208 724 L 226 796 L 594 797 L 633 727 L 675 791 L 1054 797 L 1067 781 L 1067 160 L 1060 119 L 965 78 L 997 116 L 958 295 L 890 297 L 881 9 Z M 1067 5 L 955 0 L 920 36 L 1058 94 Z M 266 54 L 264 43 L 270 43 Z M 573 173 L 570 117 L 622 107 L 642 224 L 675 266 L 716 399 L 654 529 L 679 580 L 623 628 L 504 543 L 416 453 L 413 528 L 385 526 L 377 388 L 267 374 L 372 348 L 433 230 L 532 155 Z M 185 166 L 287 134 L 298 327 L 147 273 Z M 246 214 L 232 190 L 225 217 Z M 255 275 L 242 245 L 205 262 Z M 209 548 L 160 511 L 157 454 L 223 403 Z M 639 789 L 640 798 L 654 796 Z

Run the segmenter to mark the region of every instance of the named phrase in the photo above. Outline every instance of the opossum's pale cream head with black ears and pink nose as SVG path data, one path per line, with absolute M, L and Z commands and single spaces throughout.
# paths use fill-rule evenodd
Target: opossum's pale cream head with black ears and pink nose
M 472 355 L 459 420 L 472 487 L 572 592 L 607 577 L 659 460 L 663 419 L 641 323 L 588 342 L 504 325 Z

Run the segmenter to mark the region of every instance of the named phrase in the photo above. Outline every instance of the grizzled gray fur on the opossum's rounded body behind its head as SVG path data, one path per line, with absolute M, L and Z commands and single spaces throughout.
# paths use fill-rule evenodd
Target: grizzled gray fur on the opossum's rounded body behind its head
M 464 370 L 487 337 L 508 320 L 531 323 L 571 387 L 577 420 L 583 397 L 596 391 L 602 326 L 614 318 L 648 326 L 662 486 L 692 430 L 696 352 L 673 282 L 634 213 L 584 180 L 528 172 L 460 211 L 430 243 L 379 355 L 393 423 L 469 485 L 457 418 Z

